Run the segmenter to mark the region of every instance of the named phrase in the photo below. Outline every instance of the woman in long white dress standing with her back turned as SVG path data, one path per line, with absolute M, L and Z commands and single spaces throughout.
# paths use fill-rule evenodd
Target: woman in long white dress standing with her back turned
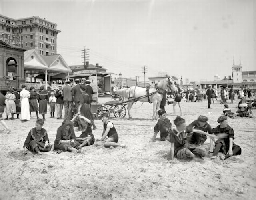
M 30 120 L 30 114 L 29 114 L 29 101 L 28 98 L 30 98 L 30 92 L 26 90 L 26 86 L 21 86 L 22 91 L 20 92 L 20 107 L 21 107 L 21 113 L 20 113 L 20 119 L 22 122 L 26 122 L 26 120 Z

